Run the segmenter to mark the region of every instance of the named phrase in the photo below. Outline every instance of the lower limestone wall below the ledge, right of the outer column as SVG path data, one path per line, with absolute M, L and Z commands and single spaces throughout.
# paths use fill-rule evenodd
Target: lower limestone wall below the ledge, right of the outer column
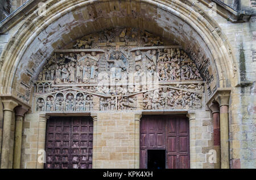
M 232 92 L 229 118 L 231 168 L 255 168 L 256 101 L 255 83 Z

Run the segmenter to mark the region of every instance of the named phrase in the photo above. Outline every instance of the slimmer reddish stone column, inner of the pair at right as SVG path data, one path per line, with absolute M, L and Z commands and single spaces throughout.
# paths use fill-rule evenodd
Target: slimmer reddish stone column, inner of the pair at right
M 216 151 L 216 163 L 214 164 L 214 169 L 221 168 L 220 160 L 220 107 L 217 103 L 211 103 L 209 105 L 213 116 L 213 145 Z

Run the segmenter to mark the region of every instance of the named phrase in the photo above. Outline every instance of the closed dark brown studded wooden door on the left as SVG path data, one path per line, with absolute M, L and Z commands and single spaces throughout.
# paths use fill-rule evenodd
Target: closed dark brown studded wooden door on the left
M 45 168 L 92 168 L 91 117 L 51 117 L 47 121 Z

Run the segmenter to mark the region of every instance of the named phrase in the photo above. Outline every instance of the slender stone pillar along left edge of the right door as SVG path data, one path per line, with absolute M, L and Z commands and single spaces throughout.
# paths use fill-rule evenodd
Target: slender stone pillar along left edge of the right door
M 134 140 L 135 140 L 135 152 L 134 152 L 134 168 L 135 169 L 139 169 L 139 141 L 140 141 L 140 132 L 139 132 L 139 124 L 141 122 L 141 117 L 142 117 L 142 113 L 135 113 L 135 118 L 134 118 Z

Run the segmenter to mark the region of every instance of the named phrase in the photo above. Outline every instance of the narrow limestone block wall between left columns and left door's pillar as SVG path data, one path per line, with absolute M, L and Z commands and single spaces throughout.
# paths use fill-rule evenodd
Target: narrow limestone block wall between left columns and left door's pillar
M 20 168 L 36 168 L 38 153 L 39 114 L 26 114 L 23 121 Z

